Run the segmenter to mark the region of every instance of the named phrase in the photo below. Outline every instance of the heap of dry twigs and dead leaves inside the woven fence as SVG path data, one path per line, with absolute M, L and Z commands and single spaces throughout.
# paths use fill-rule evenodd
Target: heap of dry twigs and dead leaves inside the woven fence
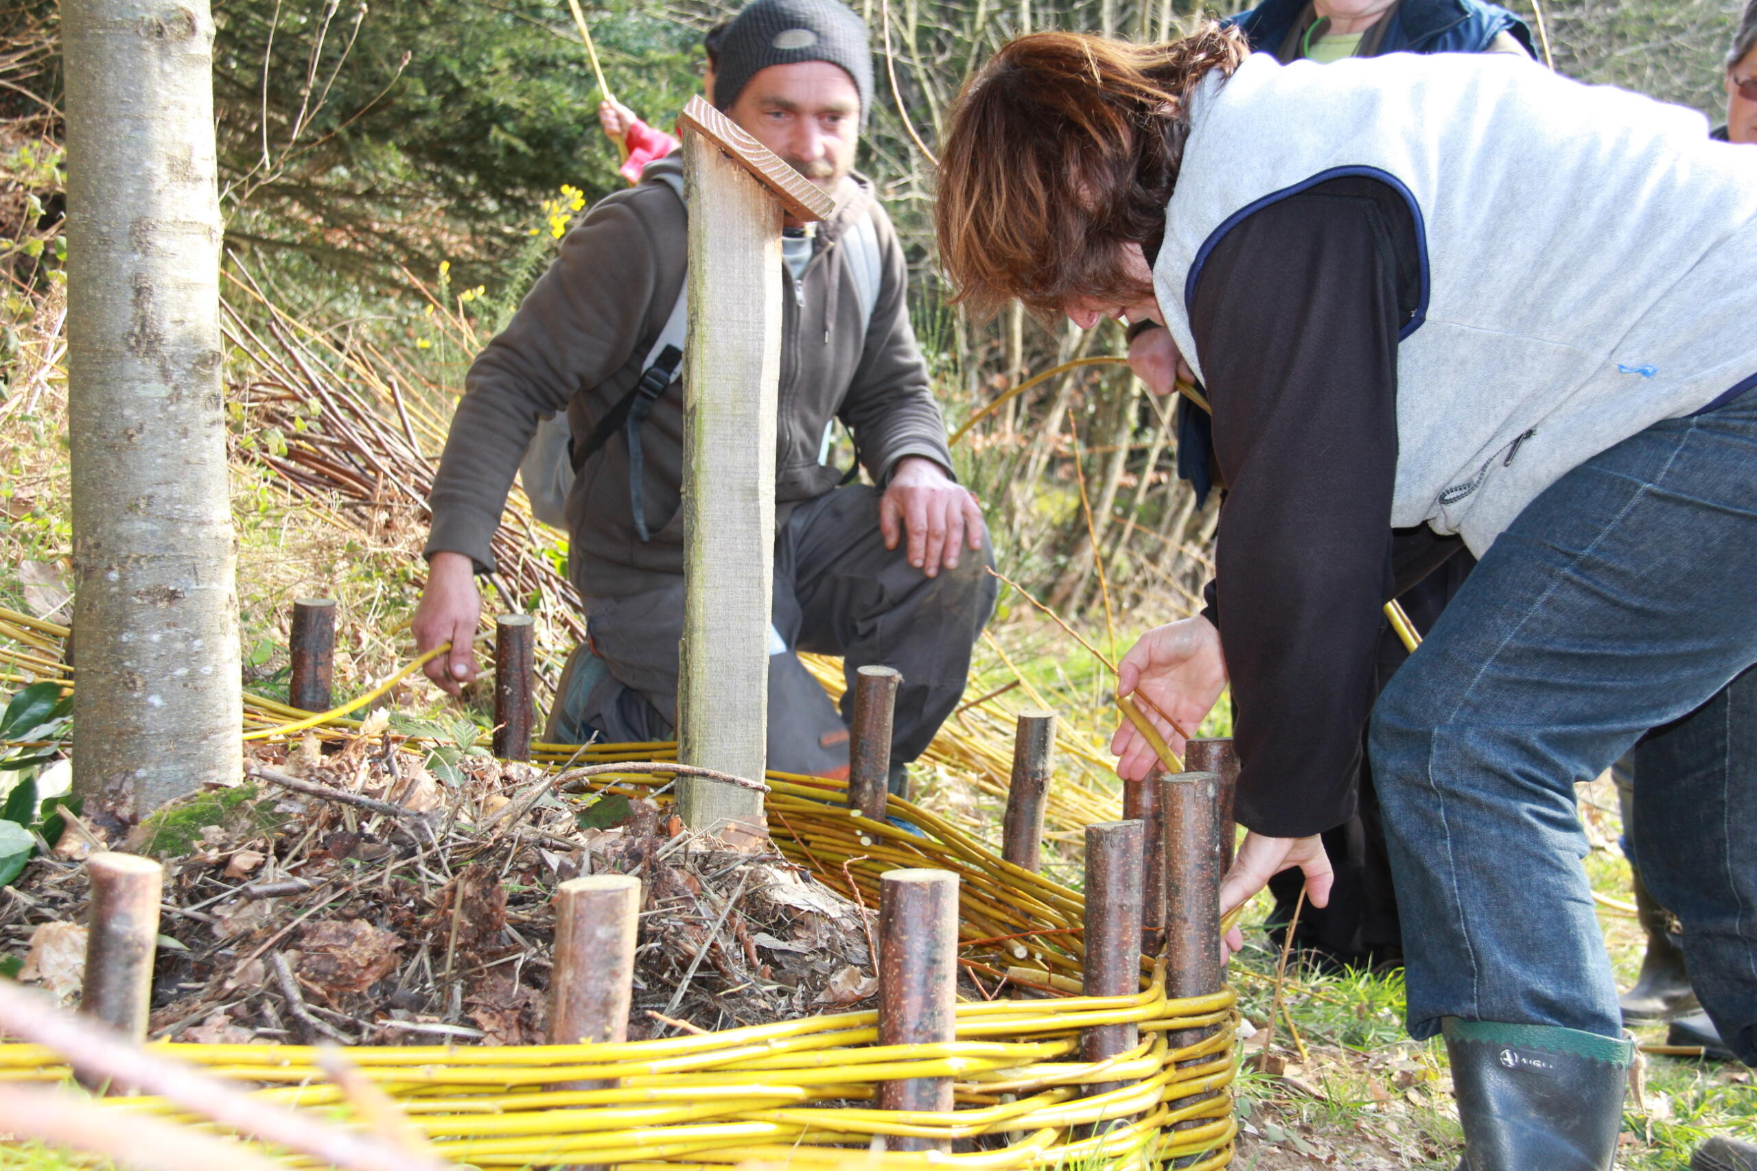
M 390 739 L 262 753 L 246 783 L 169 806 L 123 841 L 81 823 L 0 909 L 28 945 L 23 974 L 74 999 L 77 862 L 109 846 L 165 864 L 151 1036 L 170 1041 L 531 1045 L 543 1038 L 548 897 L 601 873 L 641 878 L 631 1039 L 871 995 L 859 908 L 799 867 L 703 848 L 645 797 L 582 811 L 531 765 L 466 757 L 450 794 Z

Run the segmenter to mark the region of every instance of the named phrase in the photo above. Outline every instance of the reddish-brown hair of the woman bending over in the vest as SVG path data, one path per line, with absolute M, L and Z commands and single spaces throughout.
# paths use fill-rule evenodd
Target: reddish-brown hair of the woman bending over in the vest
M 986 320 L 1012 298 L 1059 314 L 1133 300 L 1123 244 L 1158 248 L 1189 137 L 1188 97 L 1249 49 L 1209 23 L 1167 44 L 1030 33 L 965 83 L 935 211 L 954 300 Z

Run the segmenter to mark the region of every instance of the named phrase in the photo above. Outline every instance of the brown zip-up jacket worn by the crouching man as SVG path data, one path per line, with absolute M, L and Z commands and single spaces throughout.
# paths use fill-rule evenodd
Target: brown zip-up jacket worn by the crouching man
M 511 323 L 469 367 L 434 478 L 427 555 L 466 553 L 494 569 L 488 539 L 501 521 L 518 460 L 541 418 L 568 411 L 578 442 L 634 383 L 683 284 L 687 219 L 657 181 L 676 156 L 652 163 L 627 191 L 596 204 L 562 241 L 560 256 L 532 286 Z M 859 297 L 843 265 L 842 237 L 856 216 L 877 228 L 884 283 L 861 332 Z M 819 465 L 829 420 L 854 432 L 861 463 L 877 483 L 905 455 L 947 471 L 945 421 L 908 323 L 907 269 L 896 230 L 850 177 L 835 216 L 819 225 L 805 279 L 782 265 L 780 418 L 775 460 L 777 521 L 821 497 L 843 472 Z M 689 362 L 689 355 L 683 358 Z M 643 495 L 652 541 L 634 535 L 629 458 L 615 435 L 580 469 L 568 497 L 569 576 L 583 597 L 627 597 L 655 576 L 683 572 L 683 390 L 671 384 L 641 432 Z

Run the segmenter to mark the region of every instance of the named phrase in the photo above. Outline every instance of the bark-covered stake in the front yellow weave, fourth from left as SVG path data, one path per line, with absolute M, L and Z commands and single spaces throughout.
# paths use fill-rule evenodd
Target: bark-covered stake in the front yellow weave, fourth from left
M 1086 995 L 1140 992 L 1140 887 L 1144 827 L 1140 822 L 1105 822 L 1086 827 Z M 1081 1032 L 1081 1057 L 1105 1060 L 1135 1048 L 1140 1031 L 1132 1025 L 1095 1025 Z M 1086 1087 L 1103 1094 L 1126 1081 Z

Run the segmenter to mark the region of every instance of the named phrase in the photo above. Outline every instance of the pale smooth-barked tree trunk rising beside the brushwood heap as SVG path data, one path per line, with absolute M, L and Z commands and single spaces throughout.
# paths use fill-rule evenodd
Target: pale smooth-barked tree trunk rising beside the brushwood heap
M 134 822 L 241 772 L 207 0 L 67 0 L 74 781 Z

